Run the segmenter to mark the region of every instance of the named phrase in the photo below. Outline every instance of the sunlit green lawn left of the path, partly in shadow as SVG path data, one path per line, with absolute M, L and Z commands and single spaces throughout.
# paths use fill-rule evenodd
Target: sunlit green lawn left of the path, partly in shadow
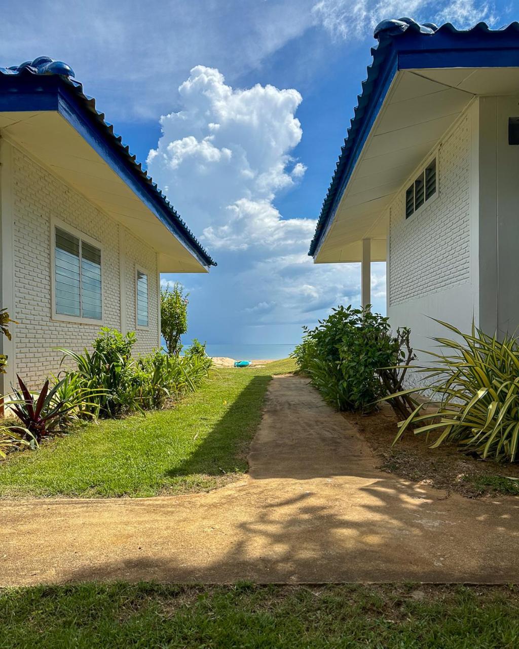
M 88 424 L 13 454 L 0 463 L 0 495 L 154 496 L 225 484 L 247 470 L 271 375 L 294 369 L 291 360 L 213 369 L 173 410 Z

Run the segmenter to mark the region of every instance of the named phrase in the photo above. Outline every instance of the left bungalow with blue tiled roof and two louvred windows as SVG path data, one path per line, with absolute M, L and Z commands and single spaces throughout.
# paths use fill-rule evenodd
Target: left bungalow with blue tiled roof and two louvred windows
M 66 64 L 0 67 L 0 306 L 17 321 L 1 394 L 40 382 L 54 348 L 82 350 L 101 326 L 160 346 L 160 273 L 215 262 L 95 109 Z

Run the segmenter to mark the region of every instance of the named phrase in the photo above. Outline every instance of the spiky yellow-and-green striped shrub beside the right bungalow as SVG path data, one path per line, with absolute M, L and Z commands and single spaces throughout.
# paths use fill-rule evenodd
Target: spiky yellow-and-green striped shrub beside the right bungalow
M 399 424 L 395 442 L 409 426 L 415 434 L 438 432 L 432 448 L 455 443 L 483 458 L 515 461 L 519 445 L 519 339 L 498 339 L 472 324 L 464 334 L 437 321 L 456 340 L 437 337 L 439 352 L 426 352 L 426 365 L 412 366 L 422 386 L 400 394 L 426 397 Z M 426 410 L 426 412 L 424 412 Z

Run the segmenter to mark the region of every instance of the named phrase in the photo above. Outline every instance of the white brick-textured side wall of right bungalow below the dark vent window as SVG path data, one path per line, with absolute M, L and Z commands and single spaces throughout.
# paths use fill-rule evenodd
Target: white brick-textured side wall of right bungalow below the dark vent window
M 429 337 L 446 332 L 428 316 L 462 330 L 470 328 L 473 317 L 479 320 L 478 122 L 472 104 L 442 139 L 439 193 L 430 204 L 405 219 L 405 190 L 420 165 L 389 208 L 388 315 L 394 328 L 411 328 L 415 349 L 432 349 Z

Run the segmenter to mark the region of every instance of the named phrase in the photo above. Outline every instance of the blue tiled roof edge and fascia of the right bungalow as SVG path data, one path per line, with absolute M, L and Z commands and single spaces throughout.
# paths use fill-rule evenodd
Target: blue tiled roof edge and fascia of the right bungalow
M 371 49 L 373 62 L 362 82 L 362 93 L 348 135 L 341 147 L 332 182 L 315 228 L 308 254 L 315 256 L 374 124 L 392 79 L 401 69 L 434 67 L 519 67 L 519 23 L 498 30 L 478 23 L 458 30 L 451 23 L 420 25 L 412 18 L 383 20 L 374 31 L 378 45 Z

